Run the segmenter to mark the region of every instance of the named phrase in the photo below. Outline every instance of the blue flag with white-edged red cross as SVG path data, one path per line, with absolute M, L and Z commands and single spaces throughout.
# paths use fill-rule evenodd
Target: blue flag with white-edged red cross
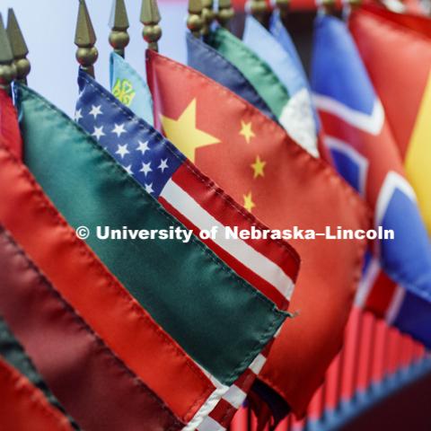
M 374 227 L 394 231 L 393 239 L 374 244 L 356 302 L 431 346 L 427 230 L 355 43 L 345 23 L 328 15 L 315 23 L 312 88 L 337 169 L 374 209 Z M 379 275 L 380 268 L 393 284 Z

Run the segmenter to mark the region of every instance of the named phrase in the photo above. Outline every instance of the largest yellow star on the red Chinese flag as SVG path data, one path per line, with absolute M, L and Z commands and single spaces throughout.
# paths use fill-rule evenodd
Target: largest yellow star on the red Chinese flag
M 196 99 L 182 112 L 179 119 L 161 116 L 162 126 L 167 138 L 175 144 L 186 157 L 195 161 L 197 148 L 218 144 L 220 141 L 196 127 Z

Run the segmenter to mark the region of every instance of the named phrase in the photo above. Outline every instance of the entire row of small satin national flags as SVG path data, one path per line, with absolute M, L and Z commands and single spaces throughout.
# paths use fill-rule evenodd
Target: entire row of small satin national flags
M 79 20 L 91 49 L 84 0 Z M 274 427 L 305 413 L 353 303 L 430 347 L 430 36 L 380 6 L 321 11 L 308 84 L 275 11 L 242 40 L 188 33 L 189 66 L 148 49 L 143 75 L 112 53 L 110 90 L 84 65 L 75 119 L 23 83 L 0 91 L 0 315 L 40 373 L 0 348 L 0 378 L 28 388 L 16 409 L 42 420 L 33 391 L 40 429 L 223 431 L 250 394 Z M 99 225 L 194 234 L 102 242 Z M 395 240 L 199 237 L 295 225 Z

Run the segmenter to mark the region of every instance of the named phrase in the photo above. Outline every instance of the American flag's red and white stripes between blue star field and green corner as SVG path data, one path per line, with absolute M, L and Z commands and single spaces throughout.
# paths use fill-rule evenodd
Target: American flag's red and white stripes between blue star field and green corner
M 223 190 L 204 177 L 191 163 L 184 163 L 163 188 L 159 201 L 196 234 L 217 226 L 215 240 L 202 240 L 227 265 L 286 310 L 299 267 L 295 250 L 281 240 L 233 240 L 224 238 L 224 227 L 268 230 Z

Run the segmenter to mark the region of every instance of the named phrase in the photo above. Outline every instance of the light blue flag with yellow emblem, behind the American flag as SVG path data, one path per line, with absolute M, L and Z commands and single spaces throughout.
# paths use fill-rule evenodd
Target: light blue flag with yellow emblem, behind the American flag
M 153 98 L 144 78 L 115 52 L 110 55 L 110 90 L 135 115 L 154 126 Z

